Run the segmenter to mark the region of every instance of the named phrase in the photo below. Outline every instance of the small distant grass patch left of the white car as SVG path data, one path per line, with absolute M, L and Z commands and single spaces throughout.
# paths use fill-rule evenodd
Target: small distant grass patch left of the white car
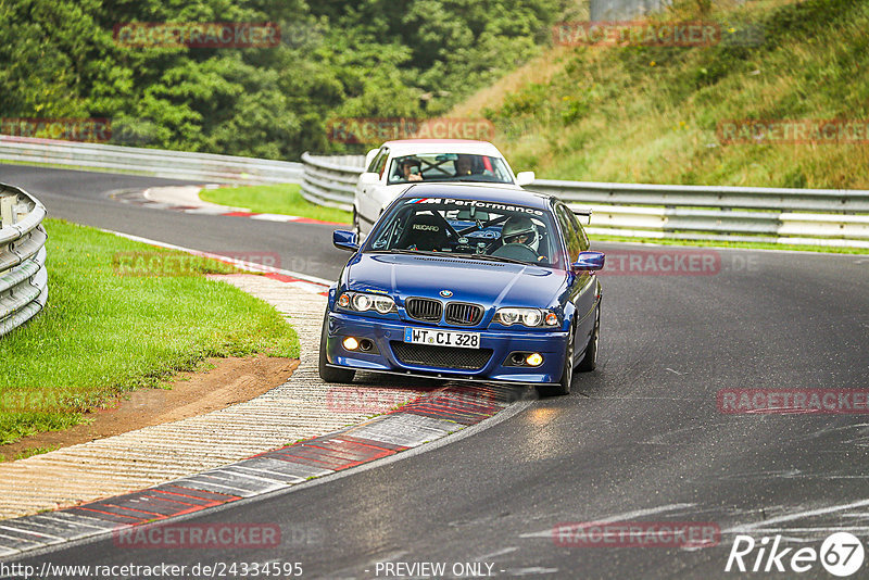
M 221 205 L 248 207 L 251 212 L 260 214 L 298 215 L 323 222 L 350 224 L 352 219 L 350 212 L 314 205 L 302 197 L 301 189 L 302 187 L 298 184 L 222 187 L 203 189 L 199 197 L 204 201 Z

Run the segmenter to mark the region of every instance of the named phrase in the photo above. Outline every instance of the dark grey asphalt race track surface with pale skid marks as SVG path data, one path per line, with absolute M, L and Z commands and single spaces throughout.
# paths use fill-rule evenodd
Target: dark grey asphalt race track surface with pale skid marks
M 36 194 L 51 217 L 199 250 L 279 252 L 284 267 L 326 278 L 347 259 L 331 249 L 331 227 L 156 211 L 105 194 L 166 180 L 0 165 L 0 181 Z M 703 275 L 602 275 L 599 369 L 578 374 L 569 396 L 400 461 L 185 521 L 277 524 L 278 547 L 133 550 L 109 538 L 22 562 L 301 563 L 304 578 L 407 578 L 419 563 L 474 577 L 461 565 L 480 563 L 504 578 L 706 580 L 740 576 L 725 572 L 735 533 L 820 551 L 844 529 L 866 543 L 869 417 L 725 414 L 718 393 L 869 388 L 869 256 L 704 252 L 717 266 Z M 592 521 L 707 522 L 720 543 L 553 540 L 556 525 Z M 854 578 L 867 576 L 869 563 Z M 798 577 L 831 578 L 818 562 Z

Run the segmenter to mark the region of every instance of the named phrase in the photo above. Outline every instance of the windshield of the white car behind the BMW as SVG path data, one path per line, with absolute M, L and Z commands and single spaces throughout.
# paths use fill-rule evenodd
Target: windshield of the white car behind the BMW
M 491 155 L 423 153 L 394 157 L 387 182 L 413 181 L 513 184 L 513 176 L 504 160 Z

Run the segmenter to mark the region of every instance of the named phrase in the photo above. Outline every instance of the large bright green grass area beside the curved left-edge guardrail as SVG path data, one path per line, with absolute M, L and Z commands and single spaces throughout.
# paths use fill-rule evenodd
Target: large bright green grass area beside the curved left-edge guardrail
M 234 268 L 46 219 L 49 303 L 0 338 L 0 444 L 72 427 L 210 356 L 298 357 L 272 306 L 205 274 Z

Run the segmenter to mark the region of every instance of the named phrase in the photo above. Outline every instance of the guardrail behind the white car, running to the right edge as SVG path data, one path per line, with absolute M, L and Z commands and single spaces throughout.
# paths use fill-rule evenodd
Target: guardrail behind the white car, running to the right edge
M 302 194 L 352 209 L 365 157 L 302 155 Z M 526 189 L 591 209 L 593 235 L 869 248 L 869 191 L 538 179 Z M 858 215 L 865 214 L 865 215 Z

